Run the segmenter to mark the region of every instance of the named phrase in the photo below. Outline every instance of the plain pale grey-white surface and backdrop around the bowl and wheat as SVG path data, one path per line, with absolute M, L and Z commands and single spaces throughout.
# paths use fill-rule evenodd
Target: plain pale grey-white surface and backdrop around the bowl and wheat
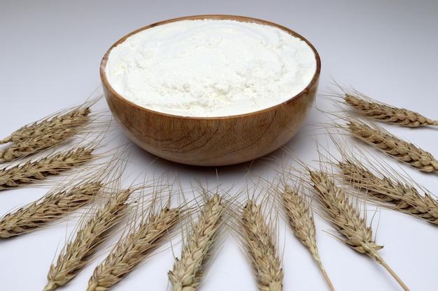
M 140 27 L 173 17 L 232 14 L 282 24 L 315 45 L 322 61 L 320 95 L 333 81 L 386 103 L 407 107 L 438 119 L 435 98 L 438 81 L 438 4 L 436 1 L 3 1 L 0 4 L 0 136 L 99 91 L 101 57 L 116 40 Z M 104 107 L 104 105 L 103 105 Z M 325 98 L 316 107 L 331 110 Z M 313 126 L 326 121 L 314 108 L 302 131 L 287 144 L 303 161 L 318 158 L 314 140 L 327 137 Z M 437 130 L 394 129 L 438 156 Z M 122 136 L 122 133 L 118 133 Z M 115 137 L 114 144 L 118 144 Z M 281 156 L 281 151 L 276 153 Z M 134 148 L 132 167 L 144 170 L 153 156 Z M 255 163 L 257 174 L 269 167 Z M 222 185 L 247 172 L 248 164 L 218 169 Z M 421 174 L 403 167 L 432 193 L 437 174 Z M 216 180 L 214 169 L 155 161 L 146 171 L 178 173 L 187 183 Z M 212 183 L 213 184 L 213 183 Z M 0 215 L 31 202 L 42 188 L 0 193 Z M 438 283 L 437 227 L 407 215 L 377 212 L 378 244 L 383 258 L 411 290 L 431 290 Z M 330 236 L 317 219 L 320 256 L 336 290 L 401 290 L 376 262 L 353 253 Z M 323 276 L 304 247 L 288 229 L 279 230 L 284 290 L 328 290 Z M 67 236 L 66 225 L 0 241 L 0 290 L 42 290 L 50 263 Z M 176 249 L 176 255 L 178 251 Z M 98 260 L 99 261 L 99 260 Z M 150 258 L 113 290 L 165 290 L 172 254 Z M 93 262 L 62 290 L 85 290 L 97 262 Z M 241 252 L 227 241 L 214 260 L 201 290 L 256 290 Z

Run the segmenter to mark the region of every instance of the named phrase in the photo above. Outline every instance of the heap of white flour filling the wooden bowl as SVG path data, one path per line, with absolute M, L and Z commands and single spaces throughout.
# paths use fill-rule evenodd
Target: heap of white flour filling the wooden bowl
M 311 82 L 311 47 L 268 25 L 183 20 L 143 30 L 111 50 L 108 81 L 150 110 L 224 117 L 288 100 Z

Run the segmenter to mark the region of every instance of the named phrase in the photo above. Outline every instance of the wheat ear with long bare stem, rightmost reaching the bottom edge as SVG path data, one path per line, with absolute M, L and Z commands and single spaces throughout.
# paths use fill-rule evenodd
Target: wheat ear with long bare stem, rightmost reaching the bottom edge
M 381 258 L 378 251 L 382 246 L 378 246 L 373 241 L 372 228 L 367 226 L 358 209 L 349 202 L 344 188 L 338 188 L 324 172 L 309 172 L 313 188 L 318 193 L 318 200 L 327 214 L 327 221 L 344 237 L 341 241 L 358 253 L 374 258 L 376 262 L 388 270 L 404 290 L 409 291 L 407 285 Z

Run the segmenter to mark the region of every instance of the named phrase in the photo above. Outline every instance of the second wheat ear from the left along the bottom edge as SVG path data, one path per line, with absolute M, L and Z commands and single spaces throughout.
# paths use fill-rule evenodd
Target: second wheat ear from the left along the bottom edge
M 136 229 L 129 232 L 111 250 L 104 262 L 94 269 L 87 291 L 108 290 L 125 278 L 180 219 L 179 208 L 164 207 L 159 214 L 151 213 Z

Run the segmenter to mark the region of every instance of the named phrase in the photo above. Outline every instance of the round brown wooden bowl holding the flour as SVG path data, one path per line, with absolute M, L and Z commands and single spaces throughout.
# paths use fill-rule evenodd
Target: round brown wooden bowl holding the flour
M 155 112 L 120 96 L 106 77 L 108 54 L 132 34 L 157 25 L 195 19 L 238 20 L 278 27 L 304 40 L 316 56 L 316 73 L 296 96 L 257 112 L 230 117 L 183 117 Z M 302 127 L 318 88 L 320 57 L 308 40 L 278 24 L 230 15 L 199 15 L 166 20 L 143 27 L 118 40 L 104 55 L 100 67 L 104 95 L 114 119 L 127 136 L 160 158 L 187 165 L 221 166 L 252 161 L 282 147 Z

